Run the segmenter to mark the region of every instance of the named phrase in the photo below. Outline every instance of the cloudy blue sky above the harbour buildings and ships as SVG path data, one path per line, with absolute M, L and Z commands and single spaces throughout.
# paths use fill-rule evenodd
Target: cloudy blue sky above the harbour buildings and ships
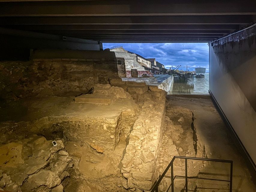
M 172 65 L 200 66 L 206 67 L 206 72 L 209 72 L 209 46 L 207 43 L 103 43 L 103 49 L 113 46 L 123 46 L 124 49 L 145 58 L 156 58 L 157 61 L 165 65 L 165 68 Z

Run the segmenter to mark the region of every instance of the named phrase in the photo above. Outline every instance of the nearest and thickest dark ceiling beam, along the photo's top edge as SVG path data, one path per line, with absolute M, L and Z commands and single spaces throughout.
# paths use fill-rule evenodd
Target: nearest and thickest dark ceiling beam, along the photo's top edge
M 256 2 L 173 3 L 172 1 L 2 2 L 0 16 L 205 16 L 255 15 Z

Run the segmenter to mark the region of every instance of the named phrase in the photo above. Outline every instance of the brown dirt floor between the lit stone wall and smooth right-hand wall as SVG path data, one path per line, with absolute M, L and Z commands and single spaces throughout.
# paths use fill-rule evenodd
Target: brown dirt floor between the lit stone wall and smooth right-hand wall
M 251 181 L 245 161 L 236 149 L 230 134 L 210 99 L 168 95 L 166 130 L 158 158 L 159 172 L 165 169 L 173 155 L 232 160 L 232 191 L 255 192 L 255 184 Z M 229 164 L 188 160 L 188 176 L 229 180 L 229 173 Z M 185 175 L 184 161 L 174 162 L 174 175 Z M 160 188 L 166 190 L 169 184 L 170 174 L 167 174 Z M 184 184 L 184 179 L 177 178 L 176 190 L 182 191 Z M 189 179 L 188 189 L 225 192 L 229 191 L 229 183 Z

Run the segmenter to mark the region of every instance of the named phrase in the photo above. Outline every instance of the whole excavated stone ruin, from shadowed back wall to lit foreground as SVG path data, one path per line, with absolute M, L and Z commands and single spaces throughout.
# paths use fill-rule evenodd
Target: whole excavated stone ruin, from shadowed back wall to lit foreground
M 197 110 L 166 102 L 157 85 L 122 81 L 116 61 L 37 58 L 0 70 L 0 191 L 149 192 L 174 155 L 220 158 Z M 188 161 L 188 174 L 209 166 Z M 173 170 L 184 176 L 185 162 Z M 175 190 L 184 182 L 176 179 Z M 170 170 L 159 191 L 169 185 Z

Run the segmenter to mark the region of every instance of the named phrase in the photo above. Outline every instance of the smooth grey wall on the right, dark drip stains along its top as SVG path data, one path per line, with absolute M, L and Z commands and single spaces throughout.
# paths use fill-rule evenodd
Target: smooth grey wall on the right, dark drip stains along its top
M 256 163 L 256 36 L 210 46 L 209 89 Z

